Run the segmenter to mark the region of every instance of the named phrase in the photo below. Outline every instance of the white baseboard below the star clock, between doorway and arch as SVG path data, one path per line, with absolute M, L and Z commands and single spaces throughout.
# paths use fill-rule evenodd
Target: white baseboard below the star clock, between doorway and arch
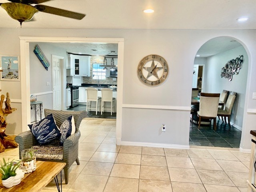
M 163 143 L 145 143 L 145 142 L 121 141 L 121 145 L 142 146 L 142 147 L 158 147 L 158 148 L 172 148 L 172 149 L 189 149 L 189 145 L 175 145 L 175 144 L 163 144 Z

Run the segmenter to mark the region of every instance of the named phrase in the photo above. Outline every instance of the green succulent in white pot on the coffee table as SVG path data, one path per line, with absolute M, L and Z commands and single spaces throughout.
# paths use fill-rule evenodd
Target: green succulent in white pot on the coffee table
M 10 162 L 9 159 L 6 161 L 3 158 L 3 161 L 0 160 L 0 173 L 2 174 L 2 184 L 6 188 L 10 188 L 14 185 L 17 185 L 21 181 L 21 176 L 16 176 L 16 170 L 19 168 L 20 162 L 14 164 L 13 160 Z

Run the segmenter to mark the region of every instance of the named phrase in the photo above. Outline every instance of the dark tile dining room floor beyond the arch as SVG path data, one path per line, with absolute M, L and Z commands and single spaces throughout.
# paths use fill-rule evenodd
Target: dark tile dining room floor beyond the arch
M 239 148 L 242 132 L 231 125 L 218 120 L 217 129 L 214 131 L 213 123 L 209 125 L 201 125 L 200 130 L 196 124 L 190 123 L 189 143 L 197 146 L 214 146 Z

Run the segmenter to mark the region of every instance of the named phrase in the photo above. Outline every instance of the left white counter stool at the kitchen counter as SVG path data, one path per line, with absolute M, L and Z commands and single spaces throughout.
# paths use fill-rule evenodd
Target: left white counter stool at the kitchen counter
M 86 112 L 88 112 L 88 109 L 95 109 L 96 115 L 97 115 L 98 103 L 101 104 L 101 97 L 98 97 L 98 89 L 89 87 L 86 89 L 86 93 L 87 93 Z M 92 101 L 96 102 L 95 108 L 92 108 Z

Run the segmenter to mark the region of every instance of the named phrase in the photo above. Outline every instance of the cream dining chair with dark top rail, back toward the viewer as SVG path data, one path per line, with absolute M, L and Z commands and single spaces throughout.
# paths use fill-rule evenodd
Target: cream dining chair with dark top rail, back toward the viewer
M 201 93 L 199 111 L 197 112 L 199 117 L 198 129 L 200 129 L 201 119 L 213 119 L 213 127 L 216 130 L 216 117 L 218 113 L 218 105 L 220 100 L 219 93 Z M 211 124 L 210 124 L 211 126 Z

